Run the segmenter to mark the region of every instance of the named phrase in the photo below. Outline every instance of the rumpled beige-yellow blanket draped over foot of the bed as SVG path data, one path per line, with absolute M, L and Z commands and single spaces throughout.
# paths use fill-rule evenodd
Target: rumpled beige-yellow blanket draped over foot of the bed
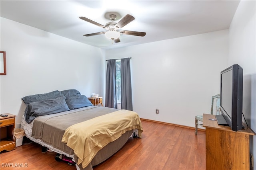
M 132 129 L 138 129 L 141 137 L 143 128 L 138 114 L 118 110 L 68 127 L 62 142 L 74 150 L 77 164 L 82 163 L 85 168 L 100 149 Z

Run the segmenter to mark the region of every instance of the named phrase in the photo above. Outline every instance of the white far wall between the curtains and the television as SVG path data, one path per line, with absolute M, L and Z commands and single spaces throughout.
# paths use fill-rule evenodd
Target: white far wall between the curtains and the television
M 220 93 L 228 30 L 106 50 L 106 59 L 126 57 L 132 57 L 134 111 L 144 119 L 194 127 L 194 117 L 210 113 L 211 97 Z

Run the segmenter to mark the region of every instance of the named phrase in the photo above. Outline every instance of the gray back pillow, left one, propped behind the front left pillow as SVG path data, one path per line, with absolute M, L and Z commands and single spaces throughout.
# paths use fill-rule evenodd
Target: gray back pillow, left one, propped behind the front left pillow
M 26 97 L 22 98 L 22 100 L 26 105 L 28 105 L 33 102 L 38 102 L 38 101 L 42 101 L 42 100 L 46 100 L 46 99 L 53 99 L 53 98 L 58 98 L 58 97 L 65 98 L 65 96 L 61 92 L 59 92 L 58 90 L 55 90 L 55 91 L 49 92 L 49 93 L 26 96 Z

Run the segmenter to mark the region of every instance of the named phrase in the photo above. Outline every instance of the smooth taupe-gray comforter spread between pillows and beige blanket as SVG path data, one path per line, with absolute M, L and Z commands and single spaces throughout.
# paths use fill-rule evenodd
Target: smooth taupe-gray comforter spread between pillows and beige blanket
M 74 154 L 73 150 L 66 146 L 66 143 L 61 142 L 65 130 L 76 123 L 117 110 L 109 107 L 88 106 L 72 111 L 36 117 L 33 122 L 31 136 L 72 155 Z

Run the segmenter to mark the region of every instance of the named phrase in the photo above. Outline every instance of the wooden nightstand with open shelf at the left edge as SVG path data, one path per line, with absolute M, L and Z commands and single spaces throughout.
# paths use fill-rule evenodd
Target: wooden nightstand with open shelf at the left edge
M 0 152 L 14 150 L 16 147 L 13 129 L 15 128 L 15 115 L 6 113 L 8 117 L 0 116 Z

